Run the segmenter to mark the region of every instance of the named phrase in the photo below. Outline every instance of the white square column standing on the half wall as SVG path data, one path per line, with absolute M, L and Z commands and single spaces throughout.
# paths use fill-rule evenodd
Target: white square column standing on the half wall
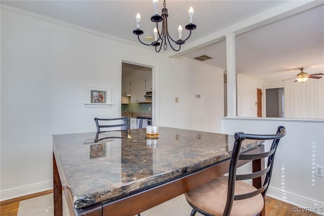
M 226 36 L 227 117 L 236 116 L 235 34 Z

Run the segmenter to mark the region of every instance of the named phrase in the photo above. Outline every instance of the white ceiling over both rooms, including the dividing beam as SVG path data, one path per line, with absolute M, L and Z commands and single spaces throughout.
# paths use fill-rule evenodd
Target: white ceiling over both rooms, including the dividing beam
M 141 14 L 141 38 L 153 35 L 152 1 L 1 1 L 2 4 L 139 43 L 133 34 Z M 159 0 L 159 13 L 163 1 Z M 225 34 L 234 32 L 236 72 L 260 80 L 324 72 L 324 1 L 166 1 L 172 37 L 194 10 L 197 28 L 170 57 L 214 57 L 206 64 L 226 70 Z M 183 37 L 188 35 L 184 29 Z M 145 41 L 145 40 L 144 40 Z M 148 42 L 147 42 L 148 43 Z M 154 49 L 150 47 L 150 49 Z M 163 55 L 163 54 L 161 54 Z

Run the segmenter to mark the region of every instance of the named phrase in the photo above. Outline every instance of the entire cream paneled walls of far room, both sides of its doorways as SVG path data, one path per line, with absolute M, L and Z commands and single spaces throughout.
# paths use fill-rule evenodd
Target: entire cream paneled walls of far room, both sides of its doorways
M 264 95 L 266 89 L 283 87 L 286 118 L 324 118 L 324 78 L 306 82 L 294 82 L 293 79 L 262 82 L 237 74 L 236 80 L 238 117 L 257 117 L 257 88 L 263 89 Z

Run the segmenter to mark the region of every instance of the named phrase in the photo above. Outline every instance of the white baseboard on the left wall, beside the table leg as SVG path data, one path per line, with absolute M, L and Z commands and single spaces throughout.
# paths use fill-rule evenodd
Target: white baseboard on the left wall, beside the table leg
M 0 192 L 0 201 L 14 199 L 17 197 L 22 197 L 51 189 L 53 189 L 53 181 L 2 191 Z

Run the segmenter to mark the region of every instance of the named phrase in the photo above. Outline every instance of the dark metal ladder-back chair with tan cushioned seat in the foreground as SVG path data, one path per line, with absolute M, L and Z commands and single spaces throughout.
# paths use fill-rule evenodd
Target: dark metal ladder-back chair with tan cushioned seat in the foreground
M 277 133 L 273 135 L 253 135 L 242 132 L 235 133 L 234 147 L 230 158 L 229 175 L 222 176 L 203 186 L 185 193 L 189 205 L 193 208 L 191 216 L 196 212 L 203 215 L 260 215 L 264 211 L 264 197 L 269 187 L 274 155 L 282 137 L 286 135 L 286 129 L 279 126 Z M 273 140 L 268 152 L 258 154 L 240 153 L 242 141 L 251 140 Z M 266 167 L 261 171 L 251 172 L 244 175 L 236 175 L 238 160 L 259 160 L 268 158 Z M 257 179 L 265 175 L 263 186 L 260 189 L 240 181 Z

